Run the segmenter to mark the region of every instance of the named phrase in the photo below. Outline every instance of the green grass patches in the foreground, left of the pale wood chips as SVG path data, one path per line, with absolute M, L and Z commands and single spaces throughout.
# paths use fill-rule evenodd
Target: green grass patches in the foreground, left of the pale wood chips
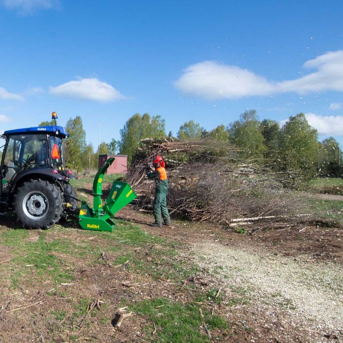
M 181 243 L 153 236 L 140 227 L 121 220 L 116 220 L 116 229 L 113 232 L 75 230 L 60 225 L 46 231 L 1 230 L 0 245 L 8 247 L 14 257 L 9 263 L 0 265 L 0 273 L 9 275 L 12 287 L 18 288 L 30 289 L 32 285 L 33 289 L 38 283 L 50 281 L 51 290 L 47 291 L 48 296 L 68 298 L 68 288 L 62 290 L 56 286 L 73 282 L 74 277 L 76 278 L 77 268 L 74 267 L 77 266 L 77 261 L 82 262 L 82 268 L 106 263 L 98 260 L 103 252 L 111 258 L 111 265 L 122 265 L 118 268 L 128 270 L 132 275 L 171 280 L 172 287 L 183 285 L 182 292 L 191 292 L 192 299 L 203 299 L 204 304 L 220 304 L 222 301 L 221 294 L 216 298 L 218 289 L 200 290 L 196 285 L 184 283 L 189 277 L 196 275 L 199 269 L 182 257 L 179 252 L 183 248 Z M 77 282 L 82 285 L 82 276 Z M 69 339 L 73 341 L 79 338 L 77 325 L 93 300 L 89 295 L 73 295 L 65 300 L 71 311 L 64 307 L 48 310 L 47 320 L 51 324 L 47 325 L 51 335 L 59 337 L 60 329 L 53 322 L 63 320 L 64 326 L 73 327 Z M 133 302 L 132 299 L 126 300 L 125 294 L 118 301 L 123 306 L 129 305 L 127 311 L 134 311 L 146 320 L 146 337 L 149 338 L 154 331 L 152 322 L 156 325 L 157 331 L 151 336 L 151 340 L 155 342 L 209 342 L 202 329 L 199 308 L 195 302 L 182 304 L 168 298 Z M 228 324 L 221 317 L 211 316 L 205 308 L 203 313 L 210 331 L 229 330 Z M 113 318 L 108 303 L 101 306 L 101 311 L 94 310 L 90 317 L 95 318 L 87 319 L 84 322 L 85 328 L 91 328 L 94 322 L 110 325 Z M 221 337 L 218 332 L 217 335 Z

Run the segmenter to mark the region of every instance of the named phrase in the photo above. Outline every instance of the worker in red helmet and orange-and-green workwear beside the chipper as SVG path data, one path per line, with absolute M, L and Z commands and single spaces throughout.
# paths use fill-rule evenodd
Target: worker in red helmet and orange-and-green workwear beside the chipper
M 162 218 L 164 225 L 171 226 L 171 217 L 167 207 L 168 178 L 165 170 L 165 163 L 161 156 L 156 156 L 153 160 L 153 169 L 147 171 L 147 177 L 155 180 L 155 197 L 153 201 L 153 213 L 155 222 L 152 226 L 162 227 Z

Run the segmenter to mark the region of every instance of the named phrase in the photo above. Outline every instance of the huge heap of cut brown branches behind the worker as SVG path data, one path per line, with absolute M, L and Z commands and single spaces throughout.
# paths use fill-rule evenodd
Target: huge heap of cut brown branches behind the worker
M 297 202 L 283 188 L 283 175 L 242 159 L 239 152 L 223 142 L 142 140 L 127 173 L 138 195 L 136 207 L 152 209 L 155 185 L 146 171 L 153 158 L 161 155 L 173 216 L 230 225 L 234 218 L 296 214 Z

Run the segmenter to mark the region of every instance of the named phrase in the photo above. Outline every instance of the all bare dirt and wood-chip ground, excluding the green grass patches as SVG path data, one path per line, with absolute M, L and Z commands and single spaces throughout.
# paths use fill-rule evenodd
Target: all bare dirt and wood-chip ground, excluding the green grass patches
M 116 313 L 127 303 L 146 299 L 194 303 L 196 292 L 208 294 L 213 289 L 217 297 L 196 300 L 229 323 L 229 329 L 211 332 L 212 342 L 343 342 L 342 228 L 303 224 L 240 234 L 205 223 L 173 221 L 172 228 L 159 229 L 147 225 L 152 222 L 151 215 L 130 206 L 121 210 L 117 219 L 129 221 L 153 237 L 176 242 L 181 257 L 176 256 L 172 262 L 177 264 L 182 259 L 199 270 L 185 277 L 180 287 L 167 277 L 126 268 L 130 262 L 115 265 L 120 254 L 110 249 L 106 236 L 94 239 L 94 232 L 78 230 L 76 224 L 47 230 L 47 246 L 56 240 L 74 245 L 91 240 L 100 249 L 97 251 L 106 251 L 106 261 L 98 262 L 101 255 L 94 256 L 90 263 L 63 251 L 53 252 L 53 257 L 63 261 L 65 269 L 75 276 L 73 281 L 57 286 L 52 280 L 38 284 L 30 281 L 28 271 L 27 281 L 15 288 L 9 278 L 15 271 L 3 273 L 0 342 L 168 342 L 154 336 L 160 330 L 154 322 L 134 311 L 116 329 Z M 15 225 L 12 220 L 6 221 L 0 232 Z M 40 230 L 31 230 L 25 239 L 34 244 L 41 234 Z M 148 263 L 155 259 L 154 249 L 163 255 L 164 247 L 159 245 L 131 247 L 125 253 L 136 254 Z M 0 239 L 0 267 L 13 257 Z M 156 266 L 164 267 L 158 261 Z M 90 299 L 90 303 L 97 298 L 104 301 L 106 307 L 97 310 L 102 311 L 102 317 L 89 315 L 80 326 L 87 304 L 83 304 L 82 315 L 69 314 L 75 312 L 75 299 L 81 298 Z M 156 308 L 160 306 L 164 305 Z M 55 317 L 51 317 L 51 310 Z M 56 314 L 61 313 L 65 315 L 58 318 Z M 211 341 L 201 325 L 198 330 L 203 342 Z

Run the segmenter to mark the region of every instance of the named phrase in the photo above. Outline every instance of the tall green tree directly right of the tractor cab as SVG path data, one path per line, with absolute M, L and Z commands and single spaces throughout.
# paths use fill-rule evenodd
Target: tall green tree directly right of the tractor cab
M 66 130 L 69 134 L 64 147 L 67 165 L 80 172 L 82 170 L 82 152 L 87 146 L 86 132 L 83 129 L 81 117 L 76 116 L 74 119 L 69 119 Z

